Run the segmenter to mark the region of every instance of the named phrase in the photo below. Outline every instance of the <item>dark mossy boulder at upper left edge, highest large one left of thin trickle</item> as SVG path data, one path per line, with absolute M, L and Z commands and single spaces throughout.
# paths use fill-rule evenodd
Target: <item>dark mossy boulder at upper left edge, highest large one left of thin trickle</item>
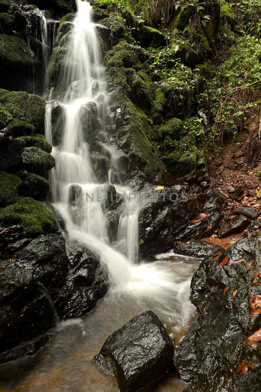
M 30 69 L 36 64 L 36 57 L 22 38 L 0 34 L 0 58 L 2 62 L 24 66 Z

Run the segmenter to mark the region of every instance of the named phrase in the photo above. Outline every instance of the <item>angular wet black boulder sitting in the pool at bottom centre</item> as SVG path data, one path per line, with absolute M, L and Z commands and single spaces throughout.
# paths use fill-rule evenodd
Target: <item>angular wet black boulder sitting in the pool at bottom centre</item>
M 118 329 L 94 361 L 117 378 L 121 392 L 150 391 L 173 367 L 174 345 L 156 314 L 146 311 Z

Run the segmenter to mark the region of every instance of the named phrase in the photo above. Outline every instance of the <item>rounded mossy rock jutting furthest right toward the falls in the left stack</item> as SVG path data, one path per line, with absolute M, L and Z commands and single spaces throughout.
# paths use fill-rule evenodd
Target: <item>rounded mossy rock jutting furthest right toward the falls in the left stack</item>
M 55 165 L 54 157 L 38 147 L 25 147 L 22 159 L 26 169 L 39 174 L 47 174 Z

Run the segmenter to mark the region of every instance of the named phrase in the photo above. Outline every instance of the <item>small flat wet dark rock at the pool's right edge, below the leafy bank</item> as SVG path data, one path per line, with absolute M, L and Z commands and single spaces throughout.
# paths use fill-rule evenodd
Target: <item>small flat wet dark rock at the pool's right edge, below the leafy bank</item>
M 174 253 L 199 259 L 213 256 L 213 254 L 220 251 L 223 251 L 221 247 L 207 241 L 191 241 L 189 243 L 176 242 L 174 245 Z

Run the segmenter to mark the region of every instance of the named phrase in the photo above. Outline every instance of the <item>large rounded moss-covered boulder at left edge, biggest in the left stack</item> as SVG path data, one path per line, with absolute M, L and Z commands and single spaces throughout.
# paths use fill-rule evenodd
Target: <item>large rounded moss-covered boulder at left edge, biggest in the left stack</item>
M 42 120 L 45 111 L 45 100 L 39 95 L 25 91 L 8 91 L 0 89 L 0 103 L 18 120 L 36 126 Z

